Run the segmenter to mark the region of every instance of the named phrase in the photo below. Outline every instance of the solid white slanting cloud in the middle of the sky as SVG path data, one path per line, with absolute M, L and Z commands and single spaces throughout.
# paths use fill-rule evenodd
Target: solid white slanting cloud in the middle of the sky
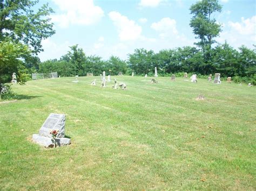
M 109 17 L 117 27 L 118 37 L 121 41 L 137 40 L 141 36 L 142 27 L 133 20 L 116 11 L 111 11 Z

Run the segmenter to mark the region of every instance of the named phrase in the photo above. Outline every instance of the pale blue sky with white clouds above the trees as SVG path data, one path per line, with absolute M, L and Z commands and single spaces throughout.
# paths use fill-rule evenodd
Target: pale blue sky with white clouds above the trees
M 59 59 L 78 44 L 85 54 L 104 60 L 111 55 L 126 60 L 136 48 L 170 49 L 194 46 L 190 27 L 194 0 L 41 0 L 55 11 L 50 18 L 56 33 L 42 41 L 41 61 Z M 218 43 L 234 48 L 256 45 L 256 1 L 219 0 L 220 13 L 212 16 L 222 25 Z M 216 44 L 217 45 L 217 44 Z

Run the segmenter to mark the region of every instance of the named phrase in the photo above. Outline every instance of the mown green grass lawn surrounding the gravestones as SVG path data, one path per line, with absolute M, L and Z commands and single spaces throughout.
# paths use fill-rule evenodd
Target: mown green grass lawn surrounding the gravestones
M 98 76 L 15 84 L 19 100 L 0 103 L 0 189 L 256 189 L 255 87 L 116 77 L 128 90 Z M 51 112 L 71 145 L 31 142 Z

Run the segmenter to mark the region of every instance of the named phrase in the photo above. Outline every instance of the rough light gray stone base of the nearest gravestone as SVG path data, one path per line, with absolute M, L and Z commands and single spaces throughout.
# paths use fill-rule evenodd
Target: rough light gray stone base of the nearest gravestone
M 53 141 L 49 137 L 43 137 L 39 134 L 33 134 L 32 136 L 33 142 L 44 146 L 46 148 L 52 148 L 54 147 Z M 69 138 L 56 138 L 56 146 L 64 146 L 64 145 L 69 145 L 70 144 L 70 139 Z

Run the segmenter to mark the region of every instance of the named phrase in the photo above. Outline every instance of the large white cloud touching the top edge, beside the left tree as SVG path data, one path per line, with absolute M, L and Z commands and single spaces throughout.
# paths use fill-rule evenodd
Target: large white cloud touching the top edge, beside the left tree
M 52 15 L 52 22 L 60 27 L 70 24 L 91 25 L 104 16 L 103 10 L 93 0 L 52 0 L 63 13 Z

